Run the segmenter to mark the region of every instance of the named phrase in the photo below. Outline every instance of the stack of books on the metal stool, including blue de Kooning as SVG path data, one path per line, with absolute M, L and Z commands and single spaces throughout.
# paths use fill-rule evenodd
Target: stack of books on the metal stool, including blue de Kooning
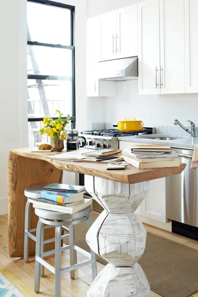
M 33 202 L 33 207 L 74 214 L 92 204 L 92 199 L 84 199 L 85 187 L 66 184 L 49 184 L 41 191 L 41 198 Z

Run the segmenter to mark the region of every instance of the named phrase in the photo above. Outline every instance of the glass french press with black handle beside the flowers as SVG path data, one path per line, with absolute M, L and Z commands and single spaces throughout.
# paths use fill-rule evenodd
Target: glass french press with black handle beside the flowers
M 86 145 L 86 139 L 81 136 L 78 136 L 78 130 L 76 129 L 71 129 L 71 130 L 67 130 L 66 132 L 66 137 L 67 137 L 67 151 L 74 151 L 77 150 L 79 148 L 83 148 L 83 146 Z M 84 141 L 81 144 L 81 141 L 79 140 L 80 138 L 83 138 Z

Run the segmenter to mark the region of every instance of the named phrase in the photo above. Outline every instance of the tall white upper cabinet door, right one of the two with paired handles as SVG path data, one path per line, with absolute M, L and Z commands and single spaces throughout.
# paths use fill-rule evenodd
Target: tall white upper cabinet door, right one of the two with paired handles
M 184 0 L 160 0 L 160 94 L 185 93 Z

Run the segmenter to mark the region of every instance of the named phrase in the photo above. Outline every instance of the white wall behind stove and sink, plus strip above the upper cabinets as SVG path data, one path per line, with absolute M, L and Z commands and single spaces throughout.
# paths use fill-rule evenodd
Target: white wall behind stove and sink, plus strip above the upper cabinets
M 89 0 L 88 16 L 92 17 L 105 12 L 119 9 L 142 0 Z M 145 126 L 173 126 L 178 119 L 189 126 L 186 120 L 198 125 L 198 94 L 176 95 L 139 95 L 138 80 L 117 82 L 117 97 L 92 98 L 92 123 L 106 123 L 106 128 L 125 117 L 135 117 L 144 121 Z M 102 117 L 101 117 L 102 115 Z

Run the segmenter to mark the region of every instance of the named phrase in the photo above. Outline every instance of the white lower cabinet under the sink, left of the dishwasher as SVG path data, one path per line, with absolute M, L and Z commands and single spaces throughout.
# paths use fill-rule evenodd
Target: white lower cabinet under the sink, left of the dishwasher
M 140 143 L 119 141 L 119 149 L 131 149 L 131 146 L 135 144 Z M 165 177 L 149 181 L 149 192 L 147 197 L 143 200 L 135 213 L 149 219 L 167 223 Z

